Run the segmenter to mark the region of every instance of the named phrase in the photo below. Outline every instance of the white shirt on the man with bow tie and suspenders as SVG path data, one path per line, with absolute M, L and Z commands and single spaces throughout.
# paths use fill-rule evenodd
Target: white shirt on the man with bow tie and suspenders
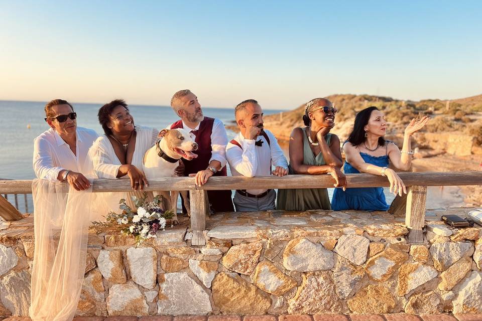
M 270 138 L 270 144 L 262 135 L 259 135 L 256 140 L 263 140 L 261 146 L 255 145 L 255 139 L 246 139 L 242 133 L 239 133 L 234 140 L 237 141 L 243 149 L 239 146 L 229 142 L 226 146 L 226 158 L 231 169 L 232 176 L 270 176 L 271 165 L 274 167 L 280 166 L 288 168 L 288 162 L 281 149 L 276 137 L 269 130 L 264 130 Z M 270 163 L 271 161 L 271 163 Z M 265 190 L 246 190 L 250 194 L 261 194 Z

